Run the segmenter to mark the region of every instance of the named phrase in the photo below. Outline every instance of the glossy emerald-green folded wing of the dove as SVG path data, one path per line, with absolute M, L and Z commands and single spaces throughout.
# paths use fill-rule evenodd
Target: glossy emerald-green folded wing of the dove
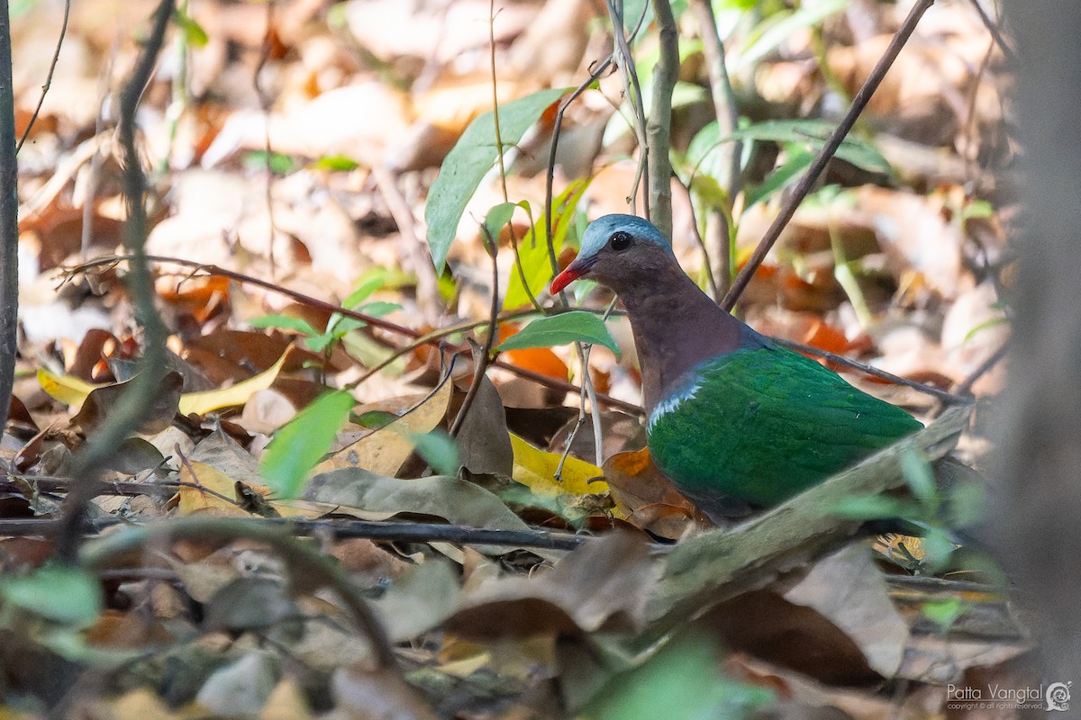
M 689 373 L 646 435 L 657 465 L 698 498 L 773 505 L 922 425 L 818 363 L 774 345 Z

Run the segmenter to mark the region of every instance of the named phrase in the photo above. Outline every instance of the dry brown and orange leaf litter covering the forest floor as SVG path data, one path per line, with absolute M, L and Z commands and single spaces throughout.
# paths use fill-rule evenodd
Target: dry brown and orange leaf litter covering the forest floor
M 757 184 L 748 196 L 758 202 L 733 235 L 737 264 L 777 212 L 771 193 L 789 181 L 786 163 L 798 167 L 801 153 L 820 145 L 819 131 L 832 127 L 813 108 L 866 78 L 897 22 L 893 10 L 852 26 L 827 10 L 818 18 L 752 13 L 744 25 L 731 17 L 734 82 L 784 118 L 740 132 L 753 142 L 748 172 L 761 167 L 748 175 Z M 54 11 L 39 3 L 13 19 L 17 57 L 51 54 Z M 150 11 L 144 2 L 106 2 L 94 17 Z M 105 532 L 86 541 L 84 557 L 107 561 L 56 565 L 48 539 L 30 542 L 15 525 L 0 532 L 0 657 L 12 668 L 4 711 L 622 719 L 783 708 L 799 717 L 823 708 L 882 717 L 920 708 L 938 716 L 949 683 L 1025 678 L 1012 662 L 1031 649 L 1028 636 L 985 558 L 958 552 L 935 565 L 933 548 L 911 538 L 872 548 L 855 533 L 859 520 L 833 514 L 839 498 L 904 488 L 904 448 L 798 502 L 711 529 L 659 476 L 635 415 L 605 410 L 599 429 L 577 417 L 568 380 L 580 384 L 584 371 L 565 343 L 611 350 L 592 354 L 591 381 L 631 411 L 640 369 L 617 320 L 529 314 L 525 288 L 544 300 L 557 270 L 542 230 L 545 178 L 531 166 L 545 167 L 553 103 L 586 77 L 608 30 L 596 8 L 571 0 L 511 4 L 494 23 L 488 3 L 404 12 L 382 0 L 326 12 L 310 3 L 278 3 L 270 13 L 192 4 L 186 27 L 200 28 L 205 44 L 195 41 L 198 32 L 174 32 L 166 53 L 183 54 L 189 74 L 163 65 L 141 119 L 148 249 L 233 274 L 156 266 L 159 309 L 173 334 L 171 372 L 93 501 L 91 525 Z M 1004 73 L 997 53 L 985 60 L 986 29 L 970 9 L 936 13 L 921 26 L 925 42 L 906 49 L 876 96 L 865 134 L 831 166 L 827 182 L 842 189 L 804 203 L 743 310 L 783 339 L 956 386 L 1009 334 L 999 296 L 1010 272 L 1002 263 L 1007 201 L 972 163 L 977 153 L 1007 151 L 998 84 L 988 80 Z M 413 30 L 399 31 L 402 23 Z M 57 517 L 72 456 L 122 411 L 139 352 L 125 267 L 108 260 L 126 217 L 121 168 L 110 131 L 79 110 L 102 106 L 102 89 L 119 86 L 138 50 L 106 25 L 75 13 L 56 85 L 21 158 L 27 331 L 0 446 L 2 522 Z M 506 70 L 502 141 L 518 144 L 506 192 L 521 201 L 512 206 L 521 231 L 497 239 L 497 288 L 477 230 L 478 218 L 505 200 L 484 114 L 490 25 Z M 813 55 L 811 31 L 828 40 L 817 64 L 797 59 Z M 648 54 L 651 43 L 636 53 Z M 975 74 L 985 63 L 987 76 Z M 30 74 L 34 65 L 15 65 L 26 68 L 15 83 L 19 117 L 43 77 Z M 694 63 L 685 65 L 691 82 L 705 84 Z M 255 72 L 273 87 L 265 111 L 253 110 Z M 921 80 L 929 72 L 931 85 Z M 174 87 L 185 83 L 182 97 Z M 56 103 L 62 89 L 71 101 Z M 613 108 L 616 117 L 626 111 L 620 94 L 617 76 L 602 77 L 569 111 L 561 147 L 574 158 L 557 158 L 552 255 L 575 245 L 587 216 L 627 212 L 633 139 L 611 121 Z M 677 159 L 721 139 L 694 119 L 702 107 L 692 103 L 673 121 L 684 137 Z M 456 152 L 471 160 L 459 164 Z M 393 168 L 392 187 L 372 169 L 382 166 Z M 677 163 L 680 179 L 700 189 L 689 169 Z M 679 199 L 675 218 L 677 255 L 696 276 L 704 258 L 690 240 L 691 207 Z M 406 261 L 417 248 L 430 253 L 428 266 Z M 105 261 L 59 269 L 95 258 Z M 440 310 L 436 328 L 422 297 L 428 281 Z M 495 341 L 502 364 L 476 379 L 468 340 L 489 332 L 493 291 L 505 299 Z M 578 293 L 590 309 L 606 299 Z M 335 312 L 338 303 L 364 314 Z M 410 345 L 442 327 L 445 335 Z M 904 389 L 846 378 L 930 409 Z M 1002 381 L 1000 369 L 980 378 L 977 399 Z M 472 382 L 478 390 L 469 393 Z M 916 443 L 940 457 L 966 419 L 948 412 Z M 600 466 L 591 462 L 597 432 Z M 978 436 L 960 439 L 972 462 L 982 447 Z M 972 502 L 971 492 L 943 492 L 921 500 L 935 510 Z M 211 524 L 197 528 L 282 518 L 315 525 L 305 526 L 305 538 L 275 526 L 296 545 L 269 542 L 250 525 L 136 542 L 143 528 L 177 518 Z M 342 529 L 356 520 L 430 536 L 347 536 Z M 505 531 L 506 541 L 451 542 L 440 534 L 448 525 Z M 574 539 L 578 549 L 525 542 L 549 536 Z M 301 557 L 344 573 L 385 637 L 357 622 L 357 600 L 343 597 L 344 586 L 307 576 Z M 383 643 L 392 665 L 381 664 Z M 676 715 L 679 706 L 686 715 Z

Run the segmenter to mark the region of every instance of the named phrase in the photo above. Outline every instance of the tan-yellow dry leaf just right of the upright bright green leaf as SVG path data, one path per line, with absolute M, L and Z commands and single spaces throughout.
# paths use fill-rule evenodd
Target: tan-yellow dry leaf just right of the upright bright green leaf
M 397 420 L 365 435 L 316 465 L 311 473 L 341 467 L 362 467 L 376 475 L 393 477 L 413 452 L 414 435 L 430 433 L 446 415 L 453 383 L 444 379 L 419 405 Z

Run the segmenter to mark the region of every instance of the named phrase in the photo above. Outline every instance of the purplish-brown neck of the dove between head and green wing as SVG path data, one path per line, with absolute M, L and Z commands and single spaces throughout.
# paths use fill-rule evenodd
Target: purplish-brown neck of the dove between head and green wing
M 693 367 L 755 343 L 758 336 L 673 266 L 648 288 L 623 294 L 642 370 L 645 410 L 676 390 Z

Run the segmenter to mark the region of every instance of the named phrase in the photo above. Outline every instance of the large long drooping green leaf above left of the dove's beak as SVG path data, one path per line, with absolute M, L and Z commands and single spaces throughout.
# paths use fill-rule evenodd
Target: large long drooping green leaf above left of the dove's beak
M 499 136 L 504 151 L 522 139 L 530 125 L 566 90 L 544 90 L 499 106 Z M 442 274 L 458 220 L 484 175 L 495 164 L 495 121 L 485 112 L 466 127 L 443 160 L 439 176 L 428 191 L 424 218 L 428 223 L 428 247 L 437 274 Z

